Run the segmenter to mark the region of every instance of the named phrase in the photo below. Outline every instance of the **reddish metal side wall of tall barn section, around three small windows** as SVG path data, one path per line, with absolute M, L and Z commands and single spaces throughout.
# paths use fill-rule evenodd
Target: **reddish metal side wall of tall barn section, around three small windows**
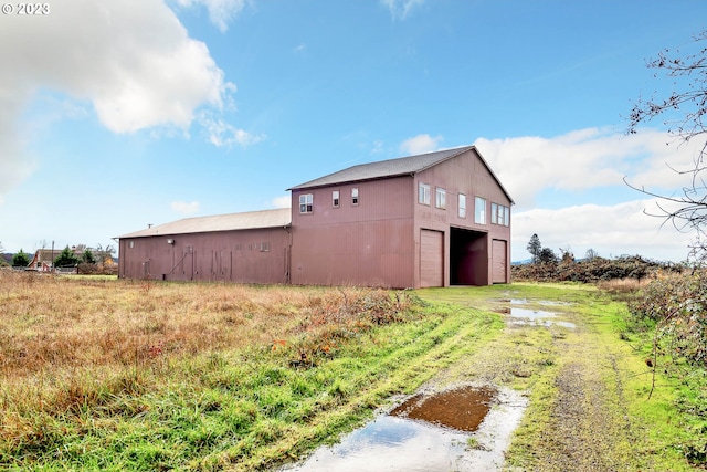
M 292 282 L 314 285 L 413 286 L 411 177 L 293 190 Z M 351 204 L 351 188 L 359 203 Z M 331 206 L 331 191 L 340 195 Z M 299 214 L 299 195 L 314 211 Z

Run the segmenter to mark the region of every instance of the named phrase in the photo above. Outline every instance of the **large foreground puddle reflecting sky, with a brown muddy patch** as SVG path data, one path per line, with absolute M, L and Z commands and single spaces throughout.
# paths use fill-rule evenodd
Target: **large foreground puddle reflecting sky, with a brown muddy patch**
M 498 471 L 526 406 L 527 399 L 509 389 L 418 395 L 281 471 Z

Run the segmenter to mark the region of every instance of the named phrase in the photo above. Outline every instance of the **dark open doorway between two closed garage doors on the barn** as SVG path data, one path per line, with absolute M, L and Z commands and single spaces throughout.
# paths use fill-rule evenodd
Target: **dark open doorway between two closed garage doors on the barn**
M 488 233 L 450 228 L 450 285 L 488 285 Z

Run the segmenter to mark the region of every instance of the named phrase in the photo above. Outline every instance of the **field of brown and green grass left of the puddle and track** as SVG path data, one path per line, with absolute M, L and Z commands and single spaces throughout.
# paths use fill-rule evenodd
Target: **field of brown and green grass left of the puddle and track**
M 253 470 L 473 352 L 497 316 L 412 292 L 0 273 L 0 464 Z

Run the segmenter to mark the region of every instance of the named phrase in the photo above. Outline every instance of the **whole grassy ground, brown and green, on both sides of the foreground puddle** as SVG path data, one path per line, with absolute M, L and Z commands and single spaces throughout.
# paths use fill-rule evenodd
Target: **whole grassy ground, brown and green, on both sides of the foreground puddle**
M 571 303 L 583 327 L 509 333 L 496 306 L 508 296 Z M 557 455 L 547 431 L 572 375 L 591 384 L 578 389 L 587 411 L 590 394 L 609 400 L 606 431 L 576 423 L 601 438 L 583 441 L 594 452 L 630 470 L 698 466 L 704 375 L 661 371 L 647 401 L 650 333 L 625 315 L 581 284 L 387 292 L 0 271 L 0 470 L 272 470 L 395 394 L 489 379 L 531 400 L 509 462 L 560 470 L 541 453 Z

